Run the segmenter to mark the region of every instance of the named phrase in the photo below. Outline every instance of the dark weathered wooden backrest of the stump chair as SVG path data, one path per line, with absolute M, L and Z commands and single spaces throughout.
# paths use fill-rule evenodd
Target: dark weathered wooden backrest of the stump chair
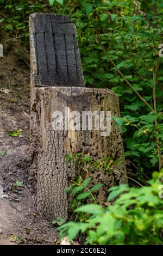
M 85 87 L 76 26 L 67 16 L 31 14 L 29 32 L 35 87 Z

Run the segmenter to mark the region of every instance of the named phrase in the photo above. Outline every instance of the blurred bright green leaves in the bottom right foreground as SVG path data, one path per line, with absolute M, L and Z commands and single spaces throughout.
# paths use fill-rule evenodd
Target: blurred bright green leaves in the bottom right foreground
M 58 228 L 60 236 L 73 240 L 79 233 L 89 245 L 160 245 L 162 243 L 163 200 L 160 191 L 163 170 L 154 173 L 149 186 L 109 189 L 109 206 L 80 206 L 76 212 L 87 214 L 83 222 L 68 222 Z M 114 203 L 110 201 L 117 198 Z

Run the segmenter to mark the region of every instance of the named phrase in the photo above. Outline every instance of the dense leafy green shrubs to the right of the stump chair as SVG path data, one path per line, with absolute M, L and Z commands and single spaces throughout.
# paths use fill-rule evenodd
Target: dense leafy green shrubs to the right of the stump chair
M 126 156 L 137 168 L 161 169 L 161 1 L 79 1 L 72 14 L 79 32 L 87 86 L 120 96 Z M 146 9 L 146 11 L 145 11 Z M 83 47 L 84 46 L 84 47 Z

